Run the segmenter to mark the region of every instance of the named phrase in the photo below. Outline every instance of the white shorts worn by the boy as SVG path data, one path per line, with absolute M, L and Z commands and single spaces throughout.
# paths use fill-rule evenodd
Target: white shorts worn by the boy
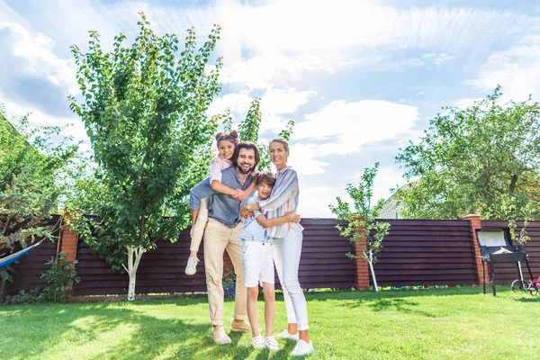
M 274 284 L 274 249 L 271 242 L 242 239 L 242 265 L 246 287 Z

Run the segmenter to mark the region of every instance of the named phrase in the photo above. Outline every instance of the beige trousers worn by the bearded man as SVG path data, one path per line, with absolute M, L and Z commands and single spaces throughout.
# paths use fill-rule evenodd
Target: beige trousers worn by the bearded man
M 246 320 L 247 290 L 244 284 L 244 267 L 241 253 L 243 223 L 228 228 L 220 221 L 208 219 L 204 231 L 204 267 L 211 325 L 223 325 L 223 252 L 227 250 L 236 274 L 236 296 L 234 300 L 234 320 Z

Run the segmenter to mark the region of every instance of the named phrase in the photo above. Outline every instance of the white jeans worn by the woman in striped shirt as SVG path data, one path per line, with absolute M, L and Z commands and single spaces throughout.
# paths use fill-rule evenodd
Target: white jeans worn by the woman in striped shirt
M 287 322 L 297 323 L 299 330 L 307 330 L 308 308 L 298 282 L 298 266 L 302 255 L 302 230 L 293 225 L 285 238 L 275 239 L 274 263 L 279 282 L 284 290 Z

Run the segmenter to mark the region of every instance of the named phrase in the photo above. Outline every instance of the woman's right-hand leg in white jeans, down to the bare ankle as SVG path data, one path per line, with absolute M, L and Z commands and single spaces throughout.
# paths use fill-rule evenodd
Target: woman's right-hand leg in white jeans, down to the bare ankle
M 294 313 L 298 323 L 299 336 L 310 343 L 308 334 L 308 309 L 302 287 L 298 282 L 298 267 L 302 255 L 302 231 L 292 229 L 283 241 L 283 285 L 293 302 Z

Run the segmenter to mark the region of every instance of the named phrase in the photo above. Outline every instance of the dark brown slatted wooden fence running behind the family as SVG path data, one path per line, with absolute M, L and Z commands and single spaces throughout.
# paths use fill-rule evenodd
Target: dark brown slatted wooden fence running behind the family
M 480 228 L 505 228 L 501 221 L 475 220 L 385 220 L 390 222 L 390 234 L 383 240 L 383 251 L 374 268 L 381 286 L 481 284 L 482 266 L 473 236 Z M 365 288 L 373 284 L 371 276 L 359 271 L 363 260 L 351 260 L 347 253 L 358 255 L 346 238 L 339 236 L 336 220 L 305 219 L 302 260 L 299 278 L 305 289 Z M 527 252 L 534 275 L 540 275 L 540 222 L 528 227 L 532 240 Z M 67 238 L 65 236 L 65 238 Z M 64 241 L 67 243 L 67 240 Z M 66 245 L 67 246 L 67 245 Z M 60 249 L 64 244 L 60 244 Z M 73 248 L 70 243 L 67 248 Z M 106 263 L 95 256 L 83 242 L 76 247 L 76 269 L 81 283 L 73 289 L 74 296 L 127 293 L 128 276 L 112 273 Z M 15 267 L 14 283 L 8 293 L 42 286 L 40 275 L 44 263 L 56 254 L 57 244 L 44 242 Z M 137 274 L 137 293 L 192 293 L 206 291 L 203 251 L 196 275 L 184 274 L 189 254 L 189 230 L 182 232 L 175 243 L 157 241 L 157 249 L 144 254 Z M 226 262 L 226 266 L 228 263 Z M 496 282 L 509 284 L 516 279 L 512 264 L 497 264 Z

